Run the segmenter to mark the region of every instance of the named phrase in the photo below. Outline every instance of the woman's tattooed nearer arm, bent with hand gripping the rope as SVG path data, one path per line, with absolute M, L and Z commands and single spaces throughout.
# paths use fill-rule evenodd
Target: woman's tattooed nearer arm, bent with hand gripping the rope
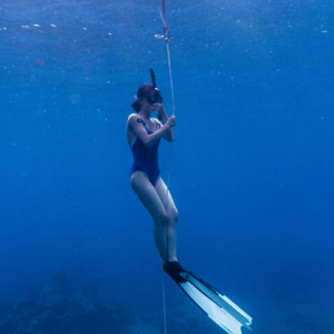
M 168 118 L 167 122 L 164 126 L 161 126 L 155 132 L 148 135 L 145 127 L 143 126 L 143 122 L 137 121 L 138 118 L 140 117 L 138 117 L 137 115 L 130 116 L 129 126 L 132 128 L 134 132 L 143 141 L 143 144 L 148 147 L 158 143 L 164 134 L 176 125 L 176 117 L 171 116 Z

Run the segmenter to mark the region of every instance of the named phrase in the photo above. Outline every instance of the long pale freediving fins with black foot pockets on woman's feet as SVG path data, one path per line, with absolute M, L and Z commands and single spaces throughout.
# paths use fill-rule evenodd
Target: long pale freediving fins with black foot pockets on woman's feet
M 213 286 L 184 269 L 178 262 L 167 262 L 165 272 L 188 297 L 228 334 L 242 334 L 242 326 L 249 331 L 252 317 Z

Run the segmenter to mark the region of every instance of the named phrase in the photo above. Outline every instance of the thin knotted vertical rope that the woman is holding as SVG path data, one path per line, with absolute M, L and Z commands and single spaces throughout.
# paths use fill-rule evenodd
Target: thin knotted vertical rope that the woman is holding
M 167 26 L 166 19 L 166 7 L 165 0 L 161 0 L 159 6 L 160 17 L 164 23 L 164 35 L 155 35 L 156 38 L 165 40 L 167 45 L 167 58 L 168 58 L 168 68 L 169 68 L 169 79 L 170 79 L 170 90 L 171 90 L 171 101 L 173 101 L 173 116 L 175 116 L 175 99 L 174 99 L 174 87 L 173 87 L 173 77 L 171 77 L 171 65 L 170 65 L 170 52 L 169 52 L 169 39 L 170 39 L 170 30 Z M 170 179 L 170 165 L 171 165 L 171 154 L 173 154 L 173 143 L 170 143 L 170 151 L 169 151 L 169 163 L 168 163 L 168 178 L 167 178 L 167 190 L 166 190 L 166 210 L 168 206 L 168 193 L 169 193 L 169 179 Z M 167 226 L 168 228 L 168 226 Z M 166 246 L 167 246 L 167 259 L 168 259 L 168 238 L 166 230 Z M 165 279 L 164 279 L 164 268 L 161 267 L 163 275 L 163 298 L 164 298 L 164 325 L 165 325 L 165 334 L 167 334 L 167 321 L 166 321 L 166 297 L 165 297 Z

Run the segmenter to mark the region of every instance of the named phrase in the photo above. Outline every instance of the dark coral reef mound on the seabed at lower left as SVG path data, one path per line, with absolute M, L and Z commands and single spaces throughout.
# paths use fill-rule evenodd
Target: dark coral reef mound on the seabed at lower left
M 127 333 L 129 310 L 104 299 L 96 288 L 78 288 L 65 273 L 27 298 L 0 305 L 1 334 Z

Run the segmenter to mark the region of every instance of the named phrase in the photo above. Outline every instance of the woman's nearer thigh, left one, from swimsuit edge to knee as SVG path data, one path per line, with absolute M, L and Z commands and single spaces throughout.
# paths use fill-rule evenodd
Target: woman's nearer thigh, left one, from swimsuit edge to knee
M 130 177 L 130 184 L 140 202 L 147 208 L 155 222 L 166 217 L 166 210 L 161 203 L 161 199 L 149 181 L 147 176 L 143 173 L 132 174 Z

